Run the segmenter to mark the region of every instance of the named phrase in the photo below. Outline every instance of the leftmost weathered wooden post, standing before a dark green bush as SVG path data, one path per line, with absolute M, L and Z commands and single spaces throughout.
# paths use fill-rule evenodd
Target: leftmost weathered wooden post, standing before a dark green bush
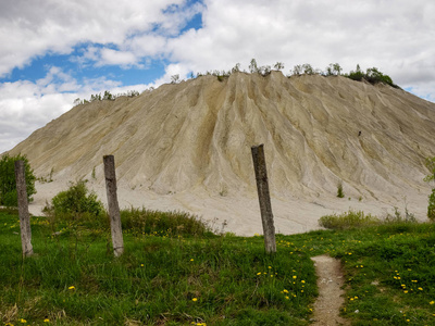
M 16 193 L 18 197 L 21 246 L 23 248 L 23 256 L 30 256 L 34 254 L 34 248 L 32 247 L 32 228 L 30 215 L 28 214 L 26 176 L 24 161 L 22 160 L 15 161 L 15 180 Z

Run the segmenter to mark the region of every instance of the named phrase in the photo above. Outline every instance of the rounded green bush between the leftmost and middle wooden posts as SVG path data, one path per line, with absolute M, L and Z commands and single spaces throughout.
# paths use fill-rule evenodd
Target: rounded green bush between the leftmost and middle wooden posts
M 70 183 L 70 188 L 59 192 L 51 200 L 51 205 L 44 209 L 46 213 L 52 213 L 57 217 L 80 218 L 84 215 L 100 217 L 104 214 L 104 208 L 95 192 L 89 192 L 85 180 Z

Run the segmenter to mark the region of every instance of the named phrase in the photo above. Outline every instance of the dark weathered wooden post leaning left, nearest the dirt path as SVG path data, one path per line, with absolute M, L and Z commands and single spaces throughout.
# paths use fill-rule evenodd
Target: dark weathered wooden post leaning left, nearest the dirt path
M 275 226 L 273 224 L 271 196 L 269 193 L 268 172 L 265 168 L 264 146 L 251 147 L 253 168 L 256 171 L 257 190 L 260 201 L 261 221 L 263 223 L 265 252 L 276 252 Z

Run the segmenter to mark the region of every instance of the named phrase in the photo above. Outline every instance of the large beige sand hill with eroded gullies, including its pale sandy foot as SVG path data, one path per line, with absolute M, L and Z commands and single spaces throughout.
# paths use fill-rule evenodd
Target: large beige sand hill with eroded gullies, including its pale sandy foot
M 53 171 L 53 183 L 37 185 L 35 212 L 80 177 L 105 200 L 102 156 L 113 154 L 121 205 L 190 211 L 252 235 L 262 231 L 250 152 L 259 143 L 277 231 L 313 229 L 349 208 L 383 214 L 408 204 L 425 218 L 435 104 L 340 76 L 236 73 L 163 85 L 75 106 L 10 153 L 25 153 L 37 176 Z M 340 180 L 345 199 L 335 196 Z

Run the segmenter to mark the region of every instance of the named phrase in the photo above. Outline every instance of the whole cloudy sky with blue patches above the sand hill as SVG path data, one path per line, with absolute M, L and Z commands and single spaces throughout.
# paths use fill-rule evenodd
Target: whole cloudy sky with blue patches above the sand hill
M 435 102 L 433 0 L 0 0 L 0 153 L 91 93 L 178 74 L 377 67 Z

